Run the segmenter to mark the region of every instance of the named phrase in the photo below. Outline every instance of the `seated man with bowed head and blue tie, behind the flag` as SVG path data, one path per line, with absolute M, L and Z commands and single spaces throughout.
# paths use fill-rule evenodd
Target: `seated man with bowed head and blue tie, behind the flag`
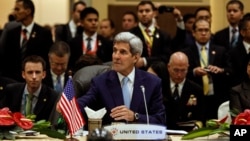
M 50 48 L 48 57 L 50 68 L 47 69 L 46 77 L 43 79 L 43 82 L 57 92 L 57 102 L 69 78 L 67 70 L 70 57 L 69 45 L 64 41 L 55 42 Z M 58 121 L 63 121 L 63 118 L 56 111 L 56 105 L 53 107 L 49 120 L 51 121 L 52 128 L 66 131 L 65 122 L 58 124 Z

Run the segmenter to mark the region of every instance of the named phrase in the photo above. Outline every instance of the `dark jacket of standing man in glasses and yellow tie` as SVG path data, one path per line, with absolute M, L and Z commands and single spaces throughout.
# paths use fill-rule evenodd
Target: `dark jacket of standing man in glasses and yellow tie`
M 192 46 L 183 50 L 183 52 L 188 56 L 189 59 L 189 71 L 187 77 L 193 80 L 201 87 L 203 87 L 203 81 L 201 76 L 195 76 L 193 73 L 194 68 L 200 67 L 200 57 L 198 47 Z M 218 108 L 219 104 L 229 99 L 229 83 L 228 79 L 231 75 L 230 65 L 227 62 L 226 49 L 221 46 L 213 45 L 210 43 L 208 51 L 209 65 L 218 66 L 224 68 L 224 73 L 211 74 L 214 89 L 214 105 Z M 217 116 L 216 116 L 217 117 Z

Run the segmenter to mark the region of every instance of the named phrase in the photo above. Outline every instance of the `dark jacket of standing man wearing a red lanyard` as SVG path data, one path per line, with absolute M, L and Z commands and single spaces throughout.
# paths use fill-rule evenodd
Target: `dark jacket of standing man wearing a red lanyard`
M 109 62 L 112 60 L 113 53 L 113 44 L 106 40 L 101 35 L 97 35 L 97 52 L 96 55 L 98 58 L 102 60 L 102 62 Z M 70 43 L 70 60 L 69 60 L 69 68 L 74 68 L 76 61 L 83 55 L 82 51 L 83 45 L 83 36 L 78 35 L 74 39 L 72 39 Z

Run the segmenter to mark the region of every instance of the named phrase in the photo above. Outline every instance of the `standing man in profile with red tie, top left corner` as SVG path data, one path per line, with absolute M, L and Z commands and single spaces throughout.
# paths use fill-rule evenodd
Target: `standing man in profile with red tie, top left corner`
M 3 64 L 1 66 L 3 76 L 23 81 L 21 77 L 22 60 L 29 55 L 39 55 L 46 63 L 48 52 L 52 45 L 52 35 L 47 29 L 33 21 L 34 4 L 31 0 L 17 0 L 14 8 L 16 21 L 22 25 L 10 29 L 4 37 L 2 46 Z

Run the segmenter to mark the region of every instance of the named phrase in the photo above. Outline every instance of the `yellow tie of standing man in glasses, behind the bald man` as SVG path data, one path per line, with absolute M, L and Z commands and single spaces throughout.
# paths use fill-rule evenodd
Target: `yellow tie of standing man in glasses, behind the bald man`
M 201 48 L 201 67 L 205 68 L 207 65 L 208 65 L 207 51 L 206 51 L 206 47 L 203 46 Z M 202 81 L 203 81 L 204 95 L 207 95 L 208 91 L 209 91 L 209 78 L 208 78 L 208 75 L 202 76 Z

